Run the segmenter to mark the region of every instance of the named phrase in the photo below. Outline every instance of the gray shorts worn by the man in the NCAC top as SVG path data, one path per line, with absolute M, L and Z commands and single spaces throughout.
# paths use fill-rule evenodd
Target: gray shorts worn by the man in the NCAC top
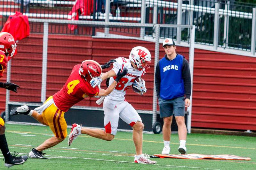
M 177 97 L 171 100 L 158 99 L 160 117 L 185 116 L 185 97 Z

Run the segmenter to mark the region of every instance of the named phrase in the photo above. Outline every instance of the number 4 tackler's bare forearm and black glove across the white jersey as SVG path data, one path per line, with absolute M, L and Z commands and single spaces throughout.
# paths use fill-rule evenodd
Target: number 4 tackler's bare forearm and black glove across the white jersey
M 119 69 L 118 73 L 117 74 L 115 73 L 116 74 L 115 81 L 111 85 L 109 85 L 106 90 L 100 89 L 98 96 L 103 97 L 103 96 L 109 95 L 115 89 L 119 80 L 127 74 L 127 71 L 128 70 L 126 68 L 122 72 L 121 72 L 121 69 Z

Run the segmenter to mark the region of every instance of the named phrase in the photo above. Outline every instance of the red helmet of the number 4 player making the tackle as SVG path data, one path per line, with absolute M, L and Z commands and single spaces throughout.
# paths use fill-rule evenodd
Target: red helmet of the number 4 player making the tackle
M 102 69 L 99 63 L 93 60 L 85 60 L 79 69 L 79 74 L 88 82 L 94 77 L 102 76 Z

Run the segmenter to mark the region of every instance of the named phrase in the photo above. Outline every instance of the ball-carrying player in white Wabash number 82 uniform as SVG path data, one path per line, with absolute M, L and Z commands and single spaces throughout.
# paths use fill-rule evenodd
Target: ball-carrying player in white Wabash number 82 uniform
M 133 142 L 135 144 L 136 155 L 134 155 L 135 163 L 147 163 L 156 164 L 156 161 L 152 161 L 147 158 L 142 153 L 142 141 L 143 141 L 143 129 L 144 124 L 137 113 L 137 111 L 128 103 L 125 98 L 125 92 L 128 88 L 135 86 L 143 95 L 147 91 L 145 86 L 145 81 L 134 81 L 137 77 L 143 76 L 146 71 L 150 68 L 148 63 L 151 63 L 151 55 L 147 48 L 144 47 L 134 47 L 131 50 L 129 59 L 124 57 L 119 57 L 116 62 L 113 63 L 112 70 L 103 73 L 102 77 L 94 78 L 91 80 L 92 87 L 100 85 L 102 80 L 110 78 L 109 84 L 111 84 L 116 76 L 119 69 L 121 71 L 126 68 L 128 70 L 127 74 L 120 79 L 116 88 L 106 96 L 103 102 L 104 110 L 104 126 L 105 131 L 101 129 L 89 129 L 84 128 L 82 125 L 73 124 L 71 132 L 69 134 L 68 144 L 70 145 L 72 141 L 81 134 L 87 134 L 92 137 L 100 138 L 103 140 L 111 141 L 114 139 L 119 117 L 129 124 L 133 128 Z

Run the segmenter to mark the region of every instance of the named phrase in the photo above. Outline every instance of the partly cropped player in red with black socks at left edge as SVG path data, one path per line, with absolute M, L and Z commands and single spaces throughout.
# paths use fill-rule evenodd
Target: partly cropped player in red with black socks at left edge
M 6 32 L 0 33 L 0 78 L 3 77 L 4 69 L 7 67 L 7 62 L 14 56 L 15 51 L 16 43 L 12 35 Z M 17 87 L 20 86 L 9 82 L 0 82 L 0 87 L 17 92 Z M 15 154 L 15 152 L 14 155 L 11 155 L 4 132 L 4 120 L 0 117 L 0 148 L 4 155 L 5 166 L 11 167 L 13 165 L 23 164 L 28 159 L 28 156 L 16 157 L 17 154 Z

